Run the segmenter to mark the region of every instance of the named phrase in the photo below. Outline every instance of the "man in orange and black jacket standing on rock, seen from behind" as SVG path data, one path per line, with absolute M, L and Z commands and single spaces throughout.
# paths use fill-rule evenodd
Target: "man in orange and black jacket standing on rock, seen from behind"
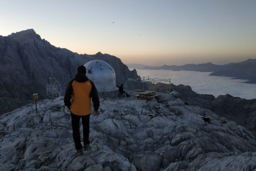
M 70 102 L 72 97 L 72 102 Z M 65 106 L 71 110 L 71 122 L 73 139 L 75 142 L 76 155 L 84 154 L 80 139 L 80 118 L 83 124 L 84 150 L 91 150 L 89 141 L 91 98 L 94 107 L 94 115 L 98 115 L 100 106 L 98 91 L 92 81 L 86 76 L 86 68 L 83 65 L 77 67 L 75 79 L 71 80 L 67 87 L 64 97 Z

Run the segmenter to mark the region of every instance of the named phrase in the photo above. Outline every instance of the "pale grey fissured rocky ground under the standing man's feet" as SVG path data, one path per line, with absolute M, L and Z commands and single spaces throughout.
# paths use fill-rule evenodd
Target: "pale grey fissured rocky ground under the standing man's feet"
M 31 103 L 0 116 L 0 170 L 256 171 L 252 133 L 218 118 L 168 94 L 159 102 L 100 99 L 90 120 L 92 151 L 75 157 L 63 97 L 42 100 L 38 113 Z

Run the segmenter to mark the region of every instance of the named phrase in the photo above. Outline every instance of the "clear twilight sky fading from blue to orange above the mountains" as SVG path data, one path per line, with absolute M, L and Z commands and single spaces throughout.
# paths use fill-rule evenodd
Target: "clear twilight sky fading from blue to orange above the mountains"
M 0 35 L 33 28 L 56 47 L 124 63 L 256 58 L 255 0 L 0 0 L 0 7 Z

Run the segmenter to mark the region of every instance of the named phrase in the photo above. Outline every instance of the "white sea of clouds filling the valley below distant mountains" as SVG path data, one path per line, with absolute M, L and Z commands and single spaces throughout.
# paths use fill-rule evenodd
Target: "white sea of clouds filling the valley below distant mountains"
M 215 97 L 220 94 L 230 94 L 244 99 L 256 99 L 256 84 L 243 83 L 248 80 L 232 80 L 231 77 L 209 76 L 211 72 L 142 69 L 136 69 L 136 71 L 141 77 L 171 79 L 171 83 L 175 85 L 191 86 L 193 91 L 200 94 L 212 94 Z

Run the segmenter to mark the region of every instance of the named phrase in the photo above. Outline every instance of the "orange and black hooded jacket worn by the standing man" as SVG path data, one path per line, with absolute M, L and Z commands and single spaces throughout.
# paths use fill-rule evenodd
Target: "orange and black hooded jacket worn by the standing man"
M 70 102 L 72 98 L 72 101 Z M 92 81 L 83 73 L 78 73 L 75 79 L 71 80 L 64 96 L 64 103 L 75 115 L 89 115 L 91 111 L 91 98 L 93 108 L 98 111 L 100 102 L 98 91 Z

